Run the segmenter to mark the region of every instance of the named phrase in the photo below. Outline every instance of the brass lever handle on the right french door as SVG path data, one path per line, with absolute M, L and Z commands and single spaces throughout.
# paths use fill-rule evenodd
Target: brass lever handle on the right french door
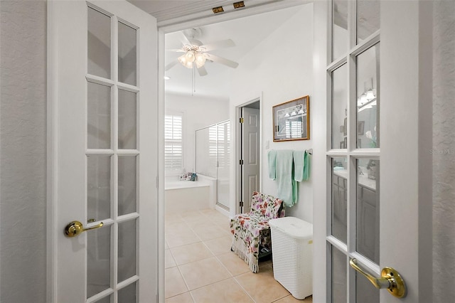
M 406 297 L 406 284 L 399 272 L 392 267 L 384 267 L 381 271 L 381 277 L 373 277 L 357 265 L 357 259 L 350 259 L 350 267 L 364 275 L 376 288 L 387 288 L 387 291 L 394 297 Z

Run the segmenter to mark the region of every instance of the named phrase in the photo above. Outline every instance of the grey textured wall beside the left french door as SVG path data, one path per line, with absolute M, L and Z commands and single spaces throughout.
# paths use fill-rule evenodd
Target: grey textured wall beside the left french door
M 45 302 L 45 1 L 1 1 L 0 302 Z

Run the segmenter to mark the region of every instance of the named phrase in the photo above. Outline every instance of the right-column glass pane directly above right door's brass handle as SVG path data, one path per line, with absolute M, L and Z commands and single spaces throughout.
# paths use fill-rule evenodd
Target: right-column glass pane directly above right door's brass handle
M 379 160 L 357 160 L 356 250 L 379 263 Z

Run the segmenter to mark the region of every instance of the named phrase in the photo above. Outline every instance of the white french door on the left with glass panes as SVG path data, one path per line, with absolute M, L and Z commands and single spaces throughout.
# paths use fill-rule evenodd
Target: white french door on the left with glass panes
M 48 1 L 53 302 L 156 302 L 156 20 Z M 80 234 L 65 226 L 80 221 Z

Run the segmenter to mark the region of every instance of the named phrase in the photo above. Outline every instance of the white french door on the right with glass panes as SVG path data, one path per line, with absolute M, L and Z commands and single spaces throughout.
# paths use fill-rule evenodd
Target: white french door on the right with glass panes
M 428 79 L 419 57 L 409 55 L 431 53 L 419 33 L 424 28 L 431 37 L 431 11 L 411 2 L 315 4 L 316 31 L 330 33 L 316 42 L 316 52 L 322 50 L 316 87 L 327 100 L 314 116 L 320 111 L 327 122 L 327 141 L 318 146 L 325 159 L 313 166 L 315 201 L 327 201 L 314 206 L 315 218 L 325 221 L 315 221 L 314 228 L 315 266 L 326 269 L 315 272 L 316 302 L 431 302 L 432 215 L 424 200 L 431 194 L 422 190 L 431 193 L 431 176 L 422 169 L 431 163 L 431 126 L 419 115 L 426 109 L 431 116 L 431 102 L 424 104 L 427 92 L 418 85 Z M 406 21 L 399 17 L 404 15 Z M 402 280 L 397 272 L 384 277 L 385 267 Z M 387 289 L 400 281 L 405 287 L 390 292 L 373 286 Z

